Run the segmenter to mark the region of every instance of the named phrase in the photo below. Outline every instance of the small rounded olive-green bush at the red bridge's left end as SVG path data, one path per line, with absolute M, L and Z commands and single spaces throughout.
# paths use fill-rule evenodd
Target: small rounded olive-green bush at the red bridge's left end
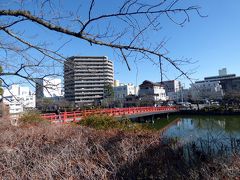
M 48 123 L 39 112 L 27 111 L 19 118 L 20 125 L 37 125 L 39 123 Z

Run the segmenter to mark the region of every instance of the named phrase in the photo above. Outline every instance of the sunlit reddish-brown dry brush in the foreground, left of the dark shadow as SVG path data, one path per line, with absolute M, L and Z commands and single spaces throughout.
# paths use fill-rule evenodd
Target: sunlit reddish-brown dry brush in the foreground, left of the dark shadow
M 7 179 L 114 177 L 157 136 L 96 131 L 73 125 L 1 124 L 0 176 Z M 139 136 L 139 137 L 138 137 Z

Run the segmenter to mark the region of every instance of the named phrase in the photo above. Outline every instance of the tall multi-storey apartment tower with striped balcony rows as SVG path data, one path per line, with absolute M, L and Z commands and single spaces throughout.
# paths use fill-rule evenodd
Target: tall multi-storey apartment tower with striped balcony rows
M 93 104 L 113 85 L 113 63 L 106 56 L 73 56 L 64 63 L 65 98 L 75 105 Z

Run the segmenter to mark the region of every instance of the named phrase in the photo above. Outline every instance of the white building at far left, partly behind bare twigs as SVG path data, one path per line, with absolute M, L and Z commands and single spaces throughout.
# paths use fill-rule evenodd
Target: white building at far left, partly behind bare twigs
M 35 108 L 36 98 L 29 87 L 14 84 L 9 89 L 4 89 L 3 103 L 9 106 L 10 114 L 21 113 L 25 109 Z

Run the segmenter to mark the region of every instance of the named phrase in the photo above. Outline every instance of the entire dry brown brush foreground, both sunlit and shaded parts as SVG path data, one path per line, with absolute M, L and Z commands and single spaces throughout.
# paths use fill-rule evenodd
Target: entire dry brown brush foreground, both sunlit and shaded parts
M 1 179 L 231 179 L 239 172 L 239 156 L 188 164 L 159 132 L 0 122 Z

